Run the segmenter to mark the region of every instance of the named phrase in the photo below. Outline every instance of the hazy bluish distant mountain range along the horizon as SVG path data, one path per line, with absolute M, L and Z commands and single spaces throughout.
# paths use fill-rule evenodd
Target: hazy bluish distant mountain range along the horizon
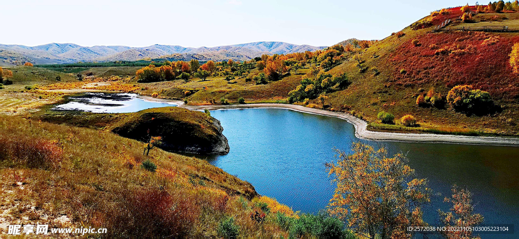
M 288 54 L 315 51 L 325 46 L 295 45 L 284 42 L 254 42 L 217 47 L 182 47 L 153 45 L 148 47 L 92 46 L 71 43 L 50 43 L 40 46 L 0 44 L 0 65 L 30 61 L 36 64 L 54 64 L 90 61 L 135 61 L 141 59 L 171 58 L 175 60 L 250 60 L 263 54 Z M 23 62 L 20 62 L 23 61 Z

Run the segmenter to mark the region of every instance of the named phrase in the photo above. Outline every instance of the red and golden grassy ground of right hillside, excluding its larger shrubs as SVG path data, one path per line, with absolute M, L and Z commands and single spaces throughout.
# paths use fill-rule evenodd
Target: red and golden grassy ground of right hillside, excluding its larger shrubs
M 516 20 L 510 22 L 517 23 Z M 393 113 L 397 118 L 412 114 L 422 126 L 415 128 L 415 131 L 433 128 L 445 132 L 469 132 L 470 128 L 490 134 L 516 135 L 519 129 L 515 124 L 519 123 L 516 122 L 519 115 L 513 94 L 517 92 L 517 77 L 511 73 L 508 54 L 513 42 L 517 41 L 517 34 L 431 33 L 431 28 L 417 31 L 405 28 L 405 36 L 389 36 L 363 51 L 361 57 L 368 67 L 365 73 L 359 72 L 357 62 L 352 59 L 332 69 L 332 73 L 347 72 L 353 82 L 348 89 L 330 95 L 333 107 L 342 110 L 351 108 L 369 122 L 377 122 L 379 111 Z M 482 46 L 484 39 L 490 36 L 499 37 L 500 42 Z M 415 38 L 421 46 L 415 47 L 411 43 Z M 459 57 L 436 56 L 434 50 L 429 48 L 431 44 L 439 48 L 473 45 L 476 50 Z M 380 71 L 379 75 L 373 74 L 375 67 Z M 407 73 L 401 74 L 401 69 Z M 472 84 L 489 91 L 503 106 L 503 112 L 479 117 L 416 106 L 420 88 L 427 92 L 434 87 L 436 92 L 446 96 L 450 88 L 461 84 Z M 395 126 L 378 127 L 402 130 Z

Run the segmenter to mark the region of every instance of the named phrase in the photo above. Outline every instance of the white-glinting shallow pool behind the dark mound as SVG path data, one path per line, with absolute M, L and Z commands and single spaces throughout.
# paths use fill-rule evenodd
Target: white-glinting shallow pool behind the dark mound
M 176 106 L 172 103 L 146 101 L 136 94 L 86 93 L 70 97 L 70 101 L 52 110 L 78 110 L 93 113 L 130 113 L 145 109 Z

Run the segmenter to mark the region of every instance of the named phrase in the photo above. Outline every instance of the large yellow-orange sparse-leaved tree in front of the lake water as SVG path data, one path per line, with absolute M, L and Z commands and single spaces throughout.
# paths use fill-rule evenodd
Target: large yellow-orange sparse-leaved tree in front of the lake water
M 338 160 L 326 164 L 337 183 L 329 213 L 347 222 L 366 238 L 411 238 L 406 230 L 424 226 L 421 206 L 430 203 L 426 179 L 414 178 L 414 169 L 401 153 L 388 157 L 386 148 L 375 150 L 362 142 L 352 153 L 338 151 Z

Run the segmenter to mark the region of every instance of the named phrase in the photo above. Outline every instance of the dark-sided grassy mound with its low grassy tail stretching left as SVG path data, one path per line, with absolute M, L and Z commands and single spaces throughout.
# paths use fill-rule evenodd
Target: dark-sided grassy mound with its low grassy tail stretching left
M 161 136 L 168 150 L 183 149 L 189 145 L 199 145 L 210 149 L 218 144 L 221 132 L 214 125 L 214 118 L 199 111 L 189 111 L 177 107 L 154 108 L 135 113 L 99 114 L 85 112 L 57 112 L 37 116 L 55 124 L 88 127 L 113 131 L 116 134 L 144 141 L 147 131 L 153 136 Z M 163 148 L 166 149 L 166 148 Z

